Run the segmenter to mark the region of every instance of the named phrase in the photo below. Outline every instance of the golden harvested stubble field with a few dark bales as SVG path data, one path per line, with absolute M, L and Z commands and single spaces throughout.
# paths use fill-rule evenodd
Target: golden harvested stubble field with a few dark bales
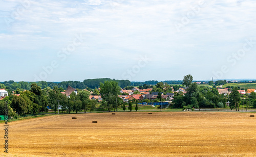
M 9 122 L 7 156 L 256 156 L 256 117 L 250 115 L 118 112 Z

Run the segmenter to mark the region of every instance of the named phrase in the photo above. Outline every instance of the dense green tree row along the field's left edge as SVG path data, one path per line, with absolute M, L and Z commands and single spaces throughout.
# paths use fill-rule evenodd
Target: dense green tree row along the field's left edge
M 77 94 L 72 92 L 70 97 L 62 94 L 57 86 L 51 90 L 49 87 L 41 89 L 36 84 L 32 84 L 30 90 L 23 91 L 19 96 L 10 95 L 0 101 L 1 115 L 4 115 L 5 101 L 9 103 L 9 116 L 39 114 L 41 112 L 48 112 L 47 106 L 50 106 L 55 113 L 60 110 L 62 112 L 70 113 L 71 111 L 84 110 L 94 111 L 97 100 L 89 99 L 90 92 L 80 90 Z

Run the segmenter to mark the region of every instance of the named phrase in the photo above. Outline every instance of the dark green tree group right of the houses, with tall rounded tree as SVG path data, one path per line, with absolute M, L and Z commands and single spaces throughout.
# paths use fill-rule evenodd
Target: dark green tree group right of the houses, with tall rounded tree
M 232 89 L 230 95 L 225 96 L 224 94 L 219 94 L 216 88 L 198 87 L 196 83 L 192 82 L 193 76 L 184 76 L 183 84 L 187 87 L 187 93 L 175 93 L 173 108 L 223 108 L 226 107 L 226 102 L 229 101 L 229 108 L 239 111 L 239 106 L 242 104 L 241 98 L 244 98 L 244 104 L 248 106 L 249 95 L 245 94 L 242 97 L 237 87 Z M 219 81 L 217 84 L 225 83 L 226 81 L 224 80 Z M 250 100 L 252 101 L 252 106 L 256 108 L 256 93 L 251 92 Z

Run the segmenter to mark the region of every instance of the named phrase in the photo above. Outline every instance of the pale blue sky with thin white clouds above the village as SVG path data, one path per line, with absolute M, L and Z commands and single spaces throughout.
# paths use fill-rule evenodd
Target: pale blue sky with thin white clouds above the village
M 256 79 L 256 2 L 2 0 L 0 81 Z

